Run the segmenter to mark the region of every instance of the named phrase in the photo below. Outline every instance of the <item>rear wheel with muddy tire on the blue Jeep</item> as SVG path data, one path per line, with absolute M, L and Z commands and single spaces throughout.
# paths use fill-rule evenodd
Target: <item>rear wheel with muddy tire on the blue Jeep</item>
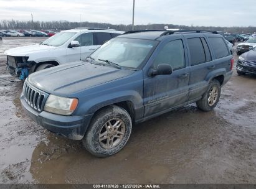
M 202 111 L 211 111 L 215 108 L 220 98 L 220 83 L 217 80 L 212 80 L 209 83 L 209 87 L 202 96 L 202 99 L 196 102 L 197 108 Z

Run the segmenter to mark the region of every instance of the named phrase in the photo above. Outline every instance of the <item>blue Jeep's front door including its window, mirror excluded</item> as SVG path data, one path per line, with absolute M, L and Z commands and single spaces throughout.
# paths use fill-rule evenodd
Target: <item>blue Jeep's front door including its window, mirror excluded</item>
M 154 53 L 151 68 L 161 63 L 173 67 L 171 75 L 145 75 L 144 104 L 145 117 L 183 104 L 187 100 L 189 68 L 186 67 L 186 50 L 181 35 L 173 37 L 159 46 Z

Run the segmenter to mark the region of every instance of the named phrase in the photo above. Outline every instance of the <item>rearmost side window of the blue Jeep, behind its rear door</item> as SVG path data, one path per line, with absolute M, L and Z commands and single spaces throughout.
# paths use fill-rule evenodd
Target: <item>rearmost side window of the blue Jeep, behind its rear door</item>
M 229 50 L 227 50 L 227 46 L 222 38 L 209 37 L 209 41 L 212 44 L 212 48 L 214 50 L 216 58 L 222 58 L 229 55 Z

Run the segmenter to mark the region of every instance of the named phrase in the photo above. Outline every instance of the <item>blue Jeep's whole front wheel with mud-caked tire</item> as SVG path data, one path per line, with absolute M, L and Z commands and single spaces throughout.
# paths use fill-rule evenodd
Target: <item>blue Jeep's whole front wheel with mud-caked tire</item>
M 131 117 L 125 109 L 108 106 L 93 117 L 82 139 L 83 146 L 97 157 L 116 154 L 128 141 L 131 127 Z

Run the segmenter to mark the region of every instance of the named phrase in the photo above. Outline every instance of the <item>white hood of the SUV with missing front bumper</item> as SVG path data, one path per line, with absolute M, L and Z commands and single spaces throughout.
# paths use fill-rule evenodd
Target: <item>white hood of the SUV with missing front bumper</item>
M 27 45 L 22 47 L 11 48 L 9 50 L 6 50 L 4 54 L 9 56 L 25 57 L 25 56 L 29 56 L 30 53 L 50 51 L 50 50 L 54 50 L 55 48 L 57 47 L 53 47 L 49 45 L 39 45 L 39 44 Z

